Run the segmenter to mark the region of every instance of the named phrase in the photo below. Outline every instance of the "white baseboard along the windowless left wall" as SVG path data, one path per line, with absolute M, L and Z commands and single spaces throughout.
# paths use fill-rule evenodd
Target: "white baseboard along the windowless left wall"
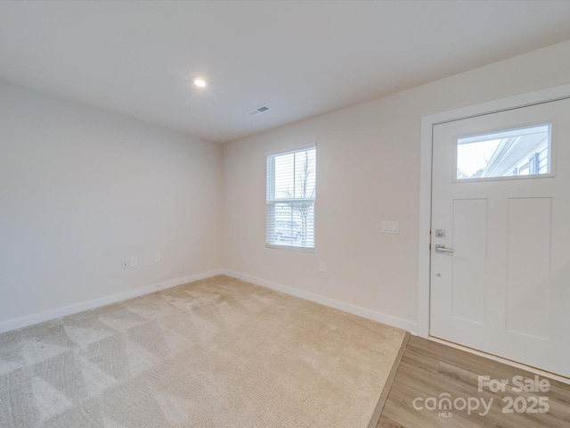
M 100 299 L 83 301 L 74 305 L 65 306 L 63 308 L 47 310 L 39 314 L 29 315 L 27 317 L 20 317 L 14 319 L 8 319 L 0 323 L 0 333 L 9 332 L 11 330 L 16 330 L 17 328 L 27 327 L 28 325 L 34 325 L 38 323 L 43 323 L 45 321 L 50 321 L 59 317 L 66 317 L 68 315 L 77 314 L 77 312 L 83 312 L 84 310 L 101 308 L 105 305 L 110 305 L 111 303 L 117 303 L 118 301 L 133 299 L 134 297 L 139 297 L 144 294 L 150 294 L 151 292 L 159 292 L 160 290 L 166 290 L 170 287 L 175 287 L 176 285 L 182 285 L 198 281 L 199 279 L 208 278 L 210 276 L 222 275 L 224 269 L 211 270 L 209 272 L 204 272 L 201 274 L 184 276 L 183 278 L 171 279 L 159 284 L 151 284 L 146 287 L 136 288 L 134 290 L 129 290 L 128 292 L 119 292 L 118 294 L 112 294 L 110 296 L 105 296 Z

